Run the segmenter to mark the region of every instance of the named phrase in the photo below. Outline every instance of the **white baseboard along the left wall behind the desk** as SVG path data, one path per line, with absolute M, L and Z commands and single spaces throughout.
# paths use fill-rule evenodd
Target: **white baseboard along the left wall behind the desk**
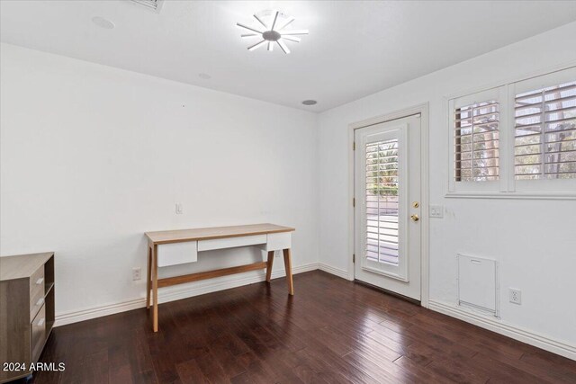
M 318 269 L 318 263 L 309 263 L 293 267 L 293 274 L 309 272 Z M 272 272 L 272 278 L 284 277 L 284 271 Z M 264 272 L 246 272 L 233 276 L 225 276 L 207 281 L 198 281 L 191 283 L 189 286 L 181 289 L 166 289 L 158 291 L 158 303 L 166 303 L 178 299 L 191 298 L 193 296 L 203 295 L 204 293 L 215 292 L 217 290 L 228 290 L 242 285 L 253 284 L 255 282 L 265 281 L 266 273 Z M 91 318 L 113 315 L 115 313 L 126 312 L 132 309 L 145 308 L 146 299 L 138 298 L 118 303 L 107 304 L 103 306 L 85 308 L 61 312 L 56 315 L 54 326 L 66 326 L 67 324 L 77 323 L 79 321 L 89 320 Z

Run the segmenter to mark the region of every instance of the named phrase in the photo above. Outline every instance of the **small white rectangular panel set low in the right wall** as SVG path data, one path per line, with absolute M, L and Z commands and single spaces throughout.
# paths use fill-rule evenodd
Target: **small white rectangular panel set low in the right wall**
M 458 259 L 458 305 L 498 316 L 498 264 L 467 255 Z

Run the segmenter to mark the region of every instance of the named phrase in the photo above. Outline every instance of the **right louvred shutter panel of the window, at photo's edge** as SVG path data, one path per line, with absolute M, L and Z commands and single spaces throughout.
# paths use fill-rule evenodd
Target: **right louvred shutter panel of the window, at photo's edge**
M 576 178 L 576 80 L 516 94 L 516 180 Z

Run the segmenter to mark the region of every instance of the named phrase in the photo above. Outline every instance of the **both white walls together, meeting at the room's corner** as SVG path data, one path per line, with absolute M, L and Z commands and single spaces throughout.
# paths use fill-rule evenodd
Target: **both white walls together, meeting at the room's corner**
M 351 272 L 347 125 L 429 103 L 430 202 L 446 207 L 430 220 L 431 300 L 455 304 L 456 253 L 495 257 L 502 324 L 576 348 L 576 202 L 446 199 L 443 103 L 573 62 L 574 46 L 576 23 L 318 117 L 3 44 L 0 254 L 55 251 L 61 314 L 141 303 L 144 283 L 130 272 L 144 272 L 148 230 L 275 222 L 297 228 L 295 266 L 320 257 Z M 259 257 L 214 252 L 187 270 Z M 522 290 L 522 306 L 508 287 Z

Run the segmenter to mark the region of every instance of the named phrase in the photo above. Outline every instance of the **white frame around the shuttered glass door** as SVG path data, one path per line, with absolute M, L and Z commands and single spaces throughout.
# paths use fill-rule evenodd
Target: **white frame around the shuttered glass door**
M 354 140 L 356 129 L 369 127 L 386 121 L 394 121 L 420 114 L 420 183 L 421 183 L 421 207 L 422 226 L 420 242 L 420 305 L 424 308 L 429 306 L 429 249 L 430 249 L 430 225 L 429 225 L 429 147 L 428 147 L 428 103 L 421 103 L 402 110 L 388 112 L 363 121 L 348 124 L 348 280 L 355 279 L 353 255 L 355 253 L 355 218 L 353 199 L 355 198 L 355 150 Z

